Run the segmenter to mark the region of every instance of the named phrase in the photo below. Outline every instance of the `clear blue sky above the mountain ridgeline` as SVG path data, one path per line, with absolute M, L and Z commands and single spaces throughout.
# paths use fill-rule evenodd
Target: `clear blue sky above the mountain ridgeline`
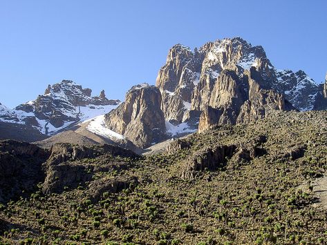
M 0 102 L 17 106 L 71 79 L 124 99 L 154 84 L 176 43 L 242 37 L 277 68 L 327 71 L 326 0 L 0 1 Z

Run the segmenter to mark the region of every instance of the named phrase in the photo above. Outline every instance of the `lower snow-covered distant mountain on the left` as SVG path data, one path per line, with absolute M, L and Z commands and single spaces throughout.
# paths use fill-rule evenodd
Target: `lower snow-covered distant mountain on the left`
M 68 130 L 81 121 L 103 115 L 120 104 L 118 100 L 107 99 L 104 90 L 96 97 L 92 97 L 91 92 L 91 89 L 68 80 L 49 85 L 44 95 L 13 110 L 1 105 L 1 128 L 16 124 L 48 137 Z M 37 140 L 32 137 L 27 141 Z

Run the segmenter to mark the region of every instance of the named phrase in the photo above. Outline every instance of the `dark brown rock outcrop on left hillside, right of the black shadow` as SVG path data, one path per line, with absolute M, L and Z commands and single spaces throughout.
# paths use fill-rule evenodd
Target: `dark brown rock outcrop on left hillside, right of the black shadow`
M 136 158 L 138 155 L 131 150 L 125 150 L 118 146 L 74 146 L 71 144 L 55 144 L 51 149 L 51 155 L 44 165 L 46 179 L 44 180 L 43 192 L 45 194 L 61 193 L 65 188 L 77 188 L 80 184 L 91 181 L 93 173 L 97 171 L 109 171 L 122 164 L 103 164 L 103 159 L 95 167 L 88 161 L 100 156 L 120 156 Z M 86 159 L 83 164 L 79 160 Z M 92 161 L 90 161 L 92 162 Z M 120 166 L 122 168 L 122 166 Z M 92 171 L 91 171 L 92 170 Z

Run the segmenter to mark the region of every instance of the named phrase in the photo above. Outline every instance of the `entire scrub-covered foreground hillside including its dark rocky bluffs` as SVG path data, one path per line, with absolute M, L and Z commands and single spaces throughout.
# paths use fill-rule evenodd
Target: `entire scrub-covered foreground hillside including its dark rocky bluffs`
M 272 111 L 144 157 L 114 146 L 2 141 L 0 169 L 8 159 L 24 168 L 0 172 L 8 179 L 0 182 L 0 241 L 324 244 L 319 195 L 327 186 L 313 184 L 325 183 L 326 126 L 326 111 Z M 31 163 L 44 175 L 28 172 Z

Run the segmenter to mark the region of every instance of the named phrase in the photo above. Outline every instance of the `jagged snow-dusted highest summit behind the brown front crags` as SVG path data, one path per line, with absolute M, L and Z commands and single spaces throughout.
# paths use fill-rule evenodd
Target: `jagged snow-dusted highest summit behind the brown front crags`
M 224 70 L 235 72 L 238 79 L 233 80 L 239 80 L 237 89 L 246 95 L 247 71 L 252 67 L 259 72 L 260 79 L 256 82 L 261 89 L 275 90 L 298 110 L 315 108 L 321 89 L 313 79 L 301 70 L 277 70 L 262 46 L 252 46 L 241 37 L 235 37 L 207 42 L 194 51 L 181 44 L 169 50 L 156 79 L 156 86 L 162 92 L 165 118 L 173 124 L 182 124 L 189 121 L 190 112 L 203 111 L 210 101 L 217 101 L 216 97 L 225 97 L 223 90 L 212 92 L 215 84 L 221 82 L 218 77 Z M 220 106 L 225 103 L 223 99 L 218 100 Z

